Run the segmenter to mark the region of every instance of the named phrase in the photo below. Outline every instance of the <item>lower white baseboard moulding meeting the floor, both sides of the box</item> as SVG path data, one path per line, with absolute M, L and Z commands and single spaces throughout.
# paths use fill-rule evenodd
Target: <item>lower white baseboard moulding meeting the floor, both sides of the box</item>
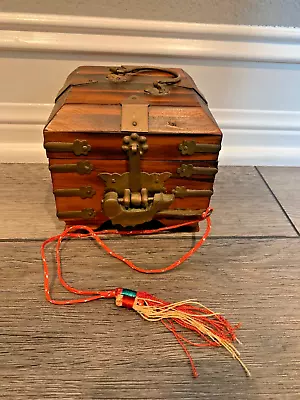
M 46 162 L 51 104 L 0 103 L 1 162 Z M 300 113 L 212 109 L 224 132 L 221 165 L 300 165 Z

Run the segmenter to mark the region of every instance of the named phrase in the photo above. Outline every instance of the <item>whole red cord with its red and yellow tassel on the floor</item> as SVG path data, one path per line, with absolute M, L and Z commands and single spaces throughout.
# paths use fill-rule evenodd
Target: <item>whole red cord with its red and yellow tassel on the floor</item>
M 145 292 L 135 292 L 129 289 L 110 289 L 110 290 L 82 290 L 76 289 L 75 287 L 69 285 L 62 275 L 62 266 L 61 266 L 61 257 L 60 257 L 60 248 L 62 241 L 68 238 L 92 238 L 97 244 L 102 247 L 109 255 L 117 258 L 118 260 L 127 264 L 130 268 L 135 271 L 146 273 L 146 274 L 154 274 L 154 273 L 163 273 L 170 271 L 184 261 L 186 261 L 189 257 L 191 257 L 205 242 L 207 239 L 210 229 L 211 229 L 211 221 L 210 214 L 212 212 L 211 208 L 208 208 L 199 219 L 187 221 L 181 224 L 162 227 L 158 229 L 152 230 L 132 230 L 132 231 L 119 231 L 119 230 L 101 230 L 94 231 L 88 226 L 84 225 L 74 225 L 71 227 L 67 227 L 62 233 L 59 235 L 53 236 L 42 243 L 41 246 L 41 256 L 44 267 L 44 290 L 46 299 L 56 305 L 72 305 L 78 303 L 87 303 L 89 301 L 98 300 L 98 299 L 109 299 L 114 298 L 116 300 L 116 304 L 118 306 L 134 309 L 142 318 L 147 321 L 160 321 L 162 324 L 174 334 L 178 343 L 183 348 L 186 353 L 191 367 L 193 371 L 193 375 L 196 377 L 197 371 L 194 365 L 194 361 L 186 348 L 186 344 L 190 344 L 192 346 L 201 347 L 201 346 L 223 346 L 230 352 L 233 358 L 237 359 L 246 373 L 250 375 L 249 370 L 242 362 L 239 356 L 239 352 L 234 347 L 232 342 L 236 339 L 235 330 L 238 326 L 231 326 L 230 323 L 218 313 L 214 313 L 199 302 L 195 300 L 185 300 L 177 303 L 168 303 L 157 299 L 149 293 Z M 177 261 L 173 262 L 167 267 L 157 268 L 157 269 L 144 269 L 136 266 L 132 261 L 124 258 L 122 255 L 116 253 L 110 247 L 104 243 L 103 239 L 100 238 L 100 235 L 105 234 L 113 234 L 113 235 L 123 235 L 123 236 L 131 236 L 131 235 L 152 235 L 155 233 L 170 231 L 174 229 L 178 229 L 184 226 L 193 225 L 200 221 L 206 220 L 206 229 L 201 237 L 201 239 L 186 252 L 183 256 L 181 256 Z M 82 233 L 82 232 L 86 233 Z M 49 284 L 49 268 L 45 255 L 45 248 L 48 244 L 52 242 L 57 242 L 56 244 L 56 264 L 57 264 L 57 275 L 61 285 L 71 293 L 81 297 L 77 299 L 71 300 L 56 300 L 51 297 L 50 294 L 50 284 Z M 183 326 L 184 328 L 190 329 L 202 339 L 202 343 L 195 343 L 184 337 L 183 334 L 177 332 L 175 323 Z

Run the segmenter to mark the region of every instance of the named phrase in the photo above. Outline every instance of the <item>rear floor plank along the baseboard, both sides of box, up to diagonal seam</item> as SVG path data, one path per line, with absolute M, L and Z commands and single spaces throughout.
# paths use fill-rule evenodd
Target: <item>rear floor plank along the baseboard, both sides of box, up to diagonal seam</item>
M 0 187 L 0 239 L 62 231 L 46 164 L 0 164 Z M 212 206 L 212 236 L 297 236 L 255 168 L 221 167 Z

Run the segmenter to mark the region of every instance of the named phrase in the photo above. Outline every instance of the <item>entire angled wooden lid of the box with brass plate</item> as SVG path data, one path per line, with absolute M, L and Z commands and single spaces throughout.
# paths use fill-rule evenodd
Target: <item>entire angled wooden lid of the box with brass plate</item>
M 122 73 L 122 68 L 131 72 Z M 118 70 L 121 73 L 114 73 Z M 147 127 L 140 123 L 145 119 L 145 112 Z M 137 122 L 134 115 L 141 121 Z M 58 93 L 44 131 L 124 132 L 130 130 L 128 116 L 132 118 L 132 131 L 221 135 L 206 99 L 186 72 L 136 66 L 77 68 Z

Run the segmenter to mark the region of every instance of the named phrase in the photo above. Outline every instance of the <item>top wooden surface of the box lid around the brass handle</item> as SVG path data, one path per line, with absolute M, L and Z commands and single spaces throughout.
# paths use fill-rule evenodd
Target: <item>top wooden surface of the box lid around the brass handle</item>
M 87 72 L 86 72 L 87 71 Z M 108 79 L 110 73 L 107 67 L 96 67 L 92 70 L 86 67 L 79 67 L 67 78 L 64 87 L 59 94 L 67 93 L 67 103 L 90 103 L 90 104 L 120 104 L 127 101 L 128 97 L 138 96 L 138 103 L 158 104 L 158 105 L 179 105 L 179 106 L 199 106 L 202 102 L 197 95 L 196 85 L 191 77 L 181 69 L 172 69 L 180 75 L 180 82 L 169 85 L 168 96 L 156 96 L 144 90 L 153 87 L 157 80 L 170 78 L 169 73 L 160 71 L 136 71 L 126 75 L 124 79 L 116 82 Z M 159 78 L 160 77 L 160 78 Z M 86 84 L 85 84 L 86 83 Z M 71 86 L 70 85 L 74 85 Z M 79 85 L 79 86 L 78 86 Z

